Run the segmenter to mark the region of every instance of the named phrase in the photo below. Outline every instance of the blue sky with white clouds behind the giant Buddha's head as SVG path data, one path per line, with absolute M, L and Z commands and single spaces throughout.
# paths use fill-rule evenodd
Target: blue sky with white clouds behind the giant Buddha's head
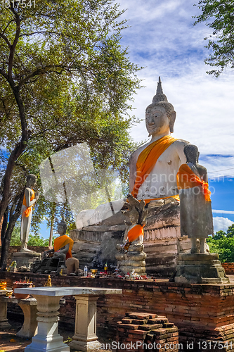
M 186 139 L 200 150 L 200 163 L 214 187 L 212 208 L 214 230 L 227 230 L 234 222 L 234 71 L 221 77 L 207 75 L 204 64 L 208 51 L 203 38 L 211 30 L 204 23 L 193 26 L 192 16 L 200 13 L 197 1 L 119 0 L 126 9 L 122 18 L 129 28 L 122 32 L 122 45 L 129 46 L 132 62 L 143 66 L 138 73 L 145 86 L 134 101 L 134 115 L 143 119 L 131 129 L 136 142 L 148 140 L 145 108 L 155 95 L 158 76 L 167 99 L 177 113 L 174 137 Z M 131 112 L 129 112 L 132 114 Z M 41 235 L 49 230 L 41 227 Z

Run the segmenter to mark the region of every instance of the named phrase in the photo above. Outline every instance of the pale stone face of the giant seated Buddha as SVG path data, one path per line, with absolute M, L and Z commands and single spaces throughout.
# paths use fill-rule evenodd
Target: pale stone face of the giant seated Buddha
M 145 111 L 145 124 L 149 136 L 155 137 L 158 134 L 170 134 L 170 120 L 163 106 L 148 106 Z

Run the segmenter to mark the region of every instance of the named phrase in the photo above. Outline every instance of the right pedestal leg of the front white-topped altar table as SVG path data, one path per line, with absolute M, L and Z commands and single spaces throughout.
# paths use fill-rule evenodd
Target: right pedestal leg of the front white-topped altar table
M 74 296 L 77 301 L 74 336 L 70 346 L 78 351 L 100 351 L 96 336 L 96 306 L 98 296 Z

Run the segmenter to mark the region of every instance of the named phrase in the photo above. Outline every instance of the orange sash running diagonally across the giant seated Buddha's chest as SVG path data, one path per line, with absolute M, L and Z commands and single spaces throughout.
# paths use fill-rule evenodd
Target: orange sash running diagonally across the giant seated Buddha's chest
M 157 139 L 157 141 L 152 142 L 140 153 L 136 162 L 136 180 L 134 189 L 131 192 L 135 198 L 138 195 L 141 184 L 143 184 L 146 177 L 150 175 L 150 172 L 157 163 L 157 159 L 160 158 L 162 153 L 164 153 L 164 151 L 177 140 L 178 139 L 171 136 L 164 136 Z M 150 199 L 150 201 L 152 201 L 152 199 Z

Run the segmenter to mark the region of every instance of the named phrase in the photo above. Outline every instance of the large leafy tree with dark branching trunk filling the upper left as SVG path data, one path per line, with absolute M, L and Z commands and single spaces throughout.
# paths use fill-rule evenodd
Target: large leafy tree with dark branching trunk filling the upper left
M 115 168 L 126 180 L 134 149 L 126 110 L 140 82 L 138 67 L 119 44 L 126 26 L 113 2 L 1 8 L 0 144 L 8 151 L 0 186 L 1 265 L 20 215 L 25 174 L 38 175 L 51 153 L 87 142 L 96 165 Z

